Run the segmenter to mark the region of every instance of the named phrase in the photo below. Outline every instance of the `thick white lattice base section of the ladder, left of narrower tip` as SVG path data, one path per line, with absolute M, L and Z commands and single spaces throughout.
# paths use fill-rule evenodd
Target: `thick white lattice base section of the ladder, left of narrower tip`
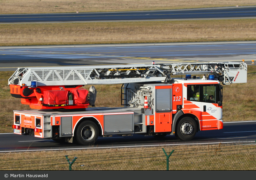
M 122 84 L 162 81 L 165 80 L 162 74 L 161 65 L 155 64 L 18 68 L 9 85 L 30 86 L 32 81 L 36 81 L 37 86 Z

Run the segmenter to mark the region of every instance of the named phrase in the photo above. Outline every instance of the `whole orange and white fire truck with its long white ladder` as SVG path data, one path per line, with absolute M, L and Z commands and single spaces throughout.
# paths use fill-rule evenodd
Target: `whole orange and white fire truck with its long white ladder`
M 246 83 L 247 64 L 18 68 L 9 78 L 11 95 L 31 109 L 13 111 L 13 129 L 82 145 L 94 144 L 99 136 L 134 134 L 187 141 L 197 131 L 223 129 L 221 82 Z M 122 107 L 95 107 L 96 84 L 122 84 Z

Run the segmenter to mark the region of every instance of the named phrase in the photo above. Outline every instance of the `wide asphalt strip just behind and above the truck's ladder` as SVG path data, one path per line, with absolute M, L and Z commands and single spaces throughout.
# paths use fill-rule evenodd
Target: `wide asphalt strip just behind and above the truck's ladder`
M 256 60 L 256 41 L 0 47 L 0 71 L 17 67 Z

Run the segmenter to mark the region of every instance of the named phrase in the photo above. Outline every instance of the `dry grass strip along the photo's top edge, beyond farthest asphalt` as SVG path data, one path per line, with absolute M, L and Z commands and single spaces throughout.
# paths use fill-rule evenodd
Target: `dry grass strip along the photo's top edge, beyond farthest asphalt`
M 0 14 L 145 11 L 255 4 L 255 0 L 0 0 Z

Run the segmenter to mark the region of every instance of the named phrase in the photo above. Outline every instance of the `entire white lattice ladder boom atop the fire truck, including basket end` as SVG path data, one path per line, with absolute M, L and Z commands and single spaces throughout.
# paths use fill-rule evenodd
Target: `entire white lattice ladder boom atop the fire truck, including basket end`
M 246 83 L 247 64 L 240 62 L 206 62 L 173 64 L 120 64 L 102 66 L 61 66 L 18 68 L 9 85 L 75 86 L 86 84 L 123 84 L 165 81 L 171 75 L 213 74 L 223 84 Z

